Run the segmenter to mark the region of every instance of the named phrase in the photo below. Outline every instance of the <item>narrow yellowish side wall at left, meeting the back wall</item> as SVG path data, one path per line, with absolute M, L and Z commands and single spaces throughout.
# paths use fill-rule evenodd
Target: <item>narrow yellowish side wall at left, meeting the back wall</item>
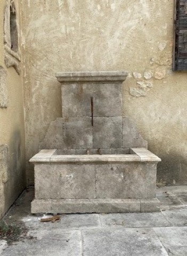
M 22 78 L 13 67 L 6 67 L 4 59 L 3 22 L 8 2 L 0 1 L 0 218 L 25 188 Z

